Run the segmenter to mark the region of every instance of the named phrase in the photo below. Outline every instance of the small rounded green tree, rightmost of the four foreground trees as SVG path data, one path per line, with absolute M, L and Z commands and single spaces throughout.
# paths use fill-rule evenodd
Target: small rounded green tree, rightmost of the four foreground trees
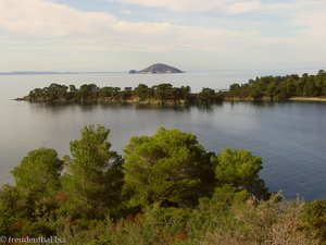
M 220 184 L 230 184 L 238 189 L 247 189 L 256 197 L 268 197 L 267 188 L 263 180 L 259 177 L 262 167 L 262 159 L 252 156 L 247 150 L 224 149 L 215 162 L 215 174 Z

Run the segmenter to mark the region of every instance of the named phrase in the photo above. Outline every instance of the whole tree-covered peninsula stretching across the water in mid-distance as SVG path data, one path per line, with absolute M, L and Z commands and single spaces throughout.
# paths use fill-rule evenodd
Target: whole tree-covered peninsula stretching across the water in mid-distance
M 218 83 L 218 81 L 216 81 Z M 216 91 L 203 87 L 191 93 L 189 86 L 174 87 L 164 83 L 152 87 L 139 84 L 137 87 L 98 87 L 96 84 L 74 85 L 51 84 L 36 88 L 28 96 L 17 100 L 33 102 L 117 102 L 117 103 L 156 103 L 156 105 L 212 105 L 222 101 L 326 101 L 326 73 L 321 70 L 316 75 L 304 73 L 286 76 L 262 76 L 246 84 L 231 84 L 228 90 Z

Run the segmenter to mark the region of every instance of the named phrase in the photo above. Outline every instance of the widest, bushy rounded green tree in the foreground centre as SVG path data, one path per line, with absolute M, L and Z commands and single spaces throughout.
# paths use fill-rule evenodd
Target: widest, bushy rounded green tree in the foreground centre
M 124 152 L 124 188 L 135 205 L 191 206 L 211 192 L 210 155 L 195 135 L 161 128 L 152 137 L 130 138 Z

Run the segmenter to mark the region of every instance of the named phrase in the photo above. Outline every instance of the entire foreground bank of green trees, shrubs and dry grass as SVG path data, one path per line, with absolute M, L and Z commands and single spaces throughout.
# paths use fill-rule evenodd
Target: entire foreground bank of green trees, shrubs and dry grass
M 206 151 L 160 128 L 131 137 L 124 157 L 110 131 L 85 127 L 71 155 L 27 154 L 0 189 L 0 234 L 67 244 L 325 244 L 326 200 L 286 201 L 247 150 Z M 2 236 L 2 237 L 3 237 Z

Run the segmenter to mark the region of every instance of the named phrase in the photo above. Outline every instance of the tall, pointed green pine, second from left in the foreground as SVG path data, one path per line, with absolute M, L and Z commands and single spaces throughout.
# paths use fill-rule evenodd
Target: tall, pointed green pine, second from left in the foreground
M 64 158 L 67 173 L 62 177 L 70 213 L 101 217 L 121 201 L 122 159 L 110 150 L 109 133 L 100 125 L 84 127 L 80 139 L 71 142 L 72 157 Z

